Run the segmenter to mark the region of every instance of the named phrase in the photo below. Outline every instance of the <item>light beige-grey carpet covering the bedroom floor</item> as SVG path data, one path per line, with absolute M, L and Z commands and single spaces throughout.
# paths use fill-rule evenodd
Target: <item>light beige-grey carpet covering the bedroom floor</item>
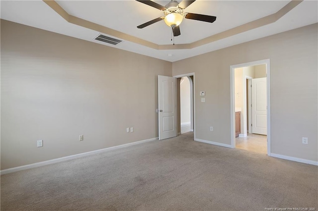
M 193 132 L 1 176 L 1 211 L 316 208 L 318 166 L 193 140 Z

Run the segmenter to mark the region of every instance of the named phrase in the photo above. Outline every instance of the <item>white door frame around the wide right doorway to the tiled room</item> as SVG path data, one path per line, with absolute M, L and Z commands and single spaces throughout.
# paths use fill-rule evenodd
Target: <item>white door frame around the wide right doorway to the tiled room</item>
M 230 105 L 230 114 L 231 114 L 231 147 L 235 148 L 235 80 L 234 80 L 234 69 L 239 67 L 254 66 L 259 64 L 266 64 L 266 73 L 267 73 L 267 155 L 271 156 L 271 133 L 270 133 L 270 63 L 269 59 L 252 61 L 243 64 L 236 64 L 230 66 L 230 96 L 231 96 L 231 105 Z

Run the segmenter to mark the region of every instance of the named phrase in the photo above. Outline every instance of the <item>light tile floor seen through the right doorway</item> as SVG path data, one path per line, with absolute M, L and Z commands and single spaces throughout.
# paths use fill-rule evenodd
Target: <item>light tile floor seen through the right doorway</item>
M 236 138 L 236 148 L 267 154 L 267 136 L 247 133 L 247 137 Z

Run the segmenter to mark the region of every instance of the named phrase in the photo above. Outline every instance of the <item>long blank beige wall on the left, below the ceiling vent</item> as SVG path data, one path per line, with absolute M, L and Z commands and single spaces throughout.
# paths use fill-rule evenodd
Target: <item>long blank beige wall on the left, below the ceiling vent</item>
M 1 20 L 1 169 L 158 137 L 171 65 Z

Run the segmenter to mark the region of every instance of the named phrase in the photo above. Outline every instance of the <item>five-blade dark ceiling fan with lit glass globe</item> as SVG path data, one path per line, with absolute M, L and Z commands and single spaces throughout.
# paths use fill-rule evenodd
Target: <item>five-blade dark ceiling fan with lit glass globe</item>
M 179 36 L 181 34 L 179 25 L 182 22 L 183 18 L 205 21 L 210 23 L 213 23 L 217 18 L 216 16 L 183 12 L 183 9 L 185 9 L 195 0 L 182 0 L 180 3 L 176 0 L 170 0 L 170 2 L 167 3 L 165 6 L 162 6 L 152 0 L 136 0 L 136 1 L 155 7 L 163 11 L 164 13 L 164 16 L 148 21 L 147 23 L 141 24 L 137 26 L 137 28 L 142 29 L 153 23 L 157 23 L 160 20 L 164 20 L 165 24 L 167 24 L 169 27 L 172 28 L 172 33 L 174 37 Z

